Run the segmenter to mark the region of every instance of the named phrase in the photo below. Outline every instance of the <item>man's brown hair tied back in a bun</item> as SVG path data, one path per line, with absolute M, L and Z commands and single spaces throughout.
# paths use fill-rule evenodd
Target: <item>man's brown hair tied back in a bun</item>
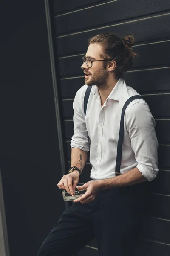
M 130 47 L 135 43 L 135 39 L 131 35 L 119 38 L 113 33 L 100 33 L 89 39 L 89 44 L 99 43 L 102 45 L 101 57 L 108 61 L 115 60 L 115 76 L 119 79 L 122 73 L 127 71 L 132 63 L 134 56 L 138 56 Z M 104 63 L 106 67 L 107 62 Z

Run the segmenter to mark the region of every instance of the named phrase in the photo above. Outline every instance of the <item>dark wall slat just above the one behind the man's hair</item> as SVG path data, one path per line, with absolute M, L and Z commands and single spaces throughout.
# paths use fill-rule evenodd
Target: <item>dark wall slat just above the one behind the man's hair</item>
M 112 1 L 110 3 L 108 2 L 105 4 L 96 5 L 93 8 L 80 9 L 78 12 L 71 12 L 67 15 L 56 17 L 56 34 L 64 34 L 81 29 L 89 29 L 94 26 L 102 26 L 103 24 L 127 20 L 133 17 L 150 15 L 169 9 L 169 0 Z M 80 19 L 81 22 L 79 22 Z

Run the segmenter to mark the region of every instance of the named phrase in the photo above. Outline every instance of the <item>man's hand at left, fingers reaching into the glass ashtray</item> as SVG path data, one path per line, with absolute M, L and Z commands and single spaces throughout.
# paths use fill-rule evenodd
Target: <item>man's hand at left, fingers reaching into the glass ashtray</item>
M 75 170 L 69 174 L 64 175 L 57 186 L 59 189 L 66 189 L 67 192 L 75 191 L 77 184 L 79 182 L 79 172 Z

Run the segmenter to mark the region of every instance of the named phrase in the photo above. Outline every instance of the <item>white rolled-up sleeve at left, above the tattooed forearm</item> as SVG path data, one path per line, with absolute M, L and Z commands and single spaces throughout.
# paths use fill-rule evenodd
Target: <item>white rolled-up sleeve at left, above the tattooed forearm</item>
M 79 148 L 84 151 L 90 150 L 88 132 L 85 124 L 85 116 L 82 113 L 82 88 L 77 91 L 73 102 L 74 135 L 71 138 L 71 148 Z

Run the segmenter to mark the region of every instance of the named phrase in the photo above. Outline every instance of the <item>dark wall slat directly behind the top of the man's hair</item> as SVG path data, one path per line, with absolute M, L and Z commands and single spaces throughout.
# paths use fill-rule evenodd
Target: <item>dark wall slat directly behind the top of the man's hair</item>
M 114 24 L 114 26 L 109 25 L 100 29 L 58 37 L 57 52 L 59 56 L 85 52 L 88 39 L 101 32 L 113 32 L 120 37 L 135 35 L 136 42 L 166 38 L 167 35 L 170 35 L 169 19 L 170 13 L 165 12 L 153 17 L 131 20 L 125 23 Z

